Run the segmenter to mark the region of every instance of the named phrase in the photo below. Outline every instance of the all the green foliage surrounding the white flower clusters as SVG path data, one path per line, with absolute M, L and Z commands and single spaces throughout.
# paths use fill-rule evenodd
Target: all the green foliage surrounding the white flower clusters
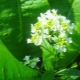
M 40 80 L 38 71 L 24 66 L 20 61 L 25 55 L 41 56 L 40 48 L 28 45 L 26 39 L 30 37 L 30 24 L 35 23 L 37 16 L 49 8 L 57 9 L 59 14 L 74 22 L 76 29 L 72 35 L 73 44 L 68 45 L 66 53 L 56 55 L 53 46 L 43 40 L 42 67 L 46 71 L 42 80 L 57 80 L 56 75 L 63 76 L 61 80 L 74 80 L 65 76 L 80 76 L 80 71 L 76 69 L 61 71 L 80 53 L 79 7 L 79 0 L 0 0 L 0 80 Z

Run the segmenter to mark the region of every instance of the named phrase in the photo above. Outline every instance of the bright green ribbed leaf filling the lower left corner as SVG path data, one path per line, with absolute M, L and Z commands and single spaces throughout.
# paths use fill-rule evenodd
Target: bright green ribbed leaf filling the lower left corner
M 0 80 L 39 80 L 40 73 L 19 62 L 0 40 Z

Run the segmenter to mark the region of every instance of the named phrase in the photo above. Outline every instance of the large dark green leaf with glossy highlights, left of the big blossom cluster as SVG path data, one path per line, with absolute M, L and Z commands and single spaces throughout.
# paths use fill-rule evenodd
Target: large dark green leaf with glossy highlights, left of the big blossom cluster
M 39 56 L 40 49 L 27 45 L 26 39 L 30 37 L 30 24 L 48 8 L 47 0 L 0 0 L 0 38 L 18 60 L 26 54 Z

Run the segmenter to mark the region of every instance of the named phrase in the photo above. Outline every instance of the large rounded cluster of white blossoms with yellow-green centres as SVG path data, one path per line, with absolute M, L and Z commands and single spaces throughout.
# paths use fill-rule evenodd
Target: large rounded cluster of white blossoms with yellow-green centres
M 27 43 L 38 46 L 43 39 L 47 39 L 59 53 L 66 52 L 66 44 L 72 43 L 72 38 L 68 35 L 73 34 L 74 28 L 74 23 L 71 24 L 65 16 L 58 15 L 57 10 L 47 10 L 40 14 L 38 22 L 31 24 L 31 39 L 28 38 Z

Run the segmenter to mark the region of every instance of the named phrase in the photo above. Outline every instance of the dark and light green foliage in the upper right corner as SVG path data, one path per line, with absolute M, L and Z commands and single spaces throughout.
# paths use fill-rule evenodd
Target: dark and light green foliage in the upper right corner
M 80 23 L 80 1 L 79 0 L 49 0 L 51 8 L 58 9 L 59 14 L 65 15 L 72 22 Z

